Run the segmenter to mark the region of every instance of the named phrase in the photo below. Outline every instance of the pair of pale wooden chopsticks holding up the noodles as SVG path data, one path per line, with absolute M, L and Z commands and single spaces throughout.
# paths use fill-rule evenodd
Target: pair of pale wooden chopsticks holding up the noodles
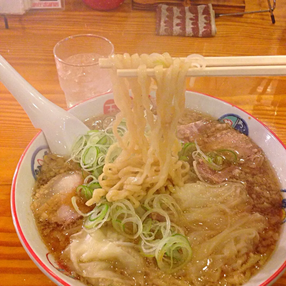
M 181 59 L 185 59 L 181 57 Z M 285 76 L 286 55 L 205 57 L 206 68 L 191 68 L 188 77 L 232 77 L 232 76 Z M 99 59 L 100 68 L 112 68 L 112 60 Z M 117 69 L 119 77 L 136 77 L 137 69 Z M 155 76 L 154 69 L 147 69 L 147 75 Z

